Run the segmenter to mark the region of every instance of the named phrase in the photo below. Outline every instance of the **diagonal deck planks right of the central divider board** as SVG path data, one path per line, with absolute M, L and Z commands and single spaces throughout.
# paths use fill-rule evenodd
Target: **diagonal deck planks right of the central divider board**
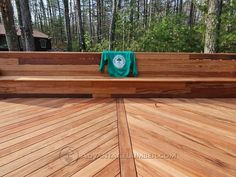
M 208 100 L 125 99 L 138 175 L 235 175 L 235 99 Z

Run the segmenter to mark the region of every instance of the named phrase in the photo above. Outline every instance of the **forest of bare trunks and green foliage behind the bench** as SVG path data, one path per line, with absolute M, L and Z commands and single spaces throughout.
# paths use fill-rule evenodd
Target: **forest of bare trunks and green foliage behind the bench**
M 1 0 L 0 10 L 9 45 L 14 24 L 25 50 L 33 26 L 54 50 L 236 52 L 236 0 Z

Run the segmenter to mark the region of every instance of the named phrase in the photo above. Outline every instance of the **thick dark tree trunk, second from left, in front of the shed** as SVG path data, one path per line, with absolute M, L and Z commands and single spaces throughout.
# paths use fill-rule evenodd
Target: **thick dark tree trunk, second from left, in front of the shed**
M 22 14 L 25 48 L 26 48 L 26 51 L 34 51 L 35 43 L 34 43 L 34 37 L 33 37 L 33 28 L 32 28 L 32 21 L 31 21 L 31 14 L 29 10 L 28 0 L 20 1 L 20 9 L 21 9 L 21 14 Z

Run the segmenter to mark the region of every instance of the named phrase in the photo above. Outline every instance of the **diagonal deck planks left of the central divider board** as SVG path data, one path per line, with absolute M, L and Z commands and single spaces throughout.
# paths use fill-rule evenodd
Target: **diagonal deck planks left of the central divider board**
M 107 168 L 114 176 L 120 173 L 114 100 L 4 99 L 0 104 L 6 108 L 0 112 L 0 176 L 99 176 Z M 7 110 L 12 106 L 16 109 Z M 112 158 L 103 158 L 109 154 Z

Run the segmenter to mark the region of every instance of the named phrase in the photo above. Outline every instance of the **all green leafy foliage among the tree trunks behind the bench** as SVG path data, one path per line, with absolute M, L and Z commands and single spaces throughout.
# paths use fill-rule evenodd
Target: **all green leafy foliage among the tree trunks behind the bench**
M 37 24 L 38 28 L 52 37 L 53 47 L 58 49 L 66 48 L 66 34 L 64 30 L 64 12 L 59 8 L 56 0 L 49 0 L 52 9 L 56 11 L 52 19 L 47 23 L 53 22 L 51 27 Z M 62 4 L 62 1 L 58 1 Z M 153 2 L 153 1 L 149 1 Z M 184 1 L 187 2 L 187 1 Z M 207 1 L 194 0 L 194 22 L 190 27 L 188 24 L 190 15 L 190 3 L 184 3 L 182 14 L 174 10 L 172 6 L 166 13 L 166 1 L 158 1 L 158 4 L 152 4 L 152 13 L 147 16 L 147 24 L 143 4 L 140 4 L 138 11 L 137 4 L 130 5 L 130 1 L 124 1 L 124 4 L 116 15 L 115 41 L 113 50 L 133 50 L 133 51 L 155 51 L 155 52 L 203 52 L 204 35 L 206 32 L 205 17 L 208 11 Z M 109 46 L 109 22 L 112 9 L 111 1 L 105 0 L 103 5 L 103 24 L 102 24 L 102 41 L 96 41 L 96 21 L 93 22 L 93 34 L 89 34 L 88 1 L 83 1 L 84 31 L 87 51 L 103 51 Z M 35 4 L 35 3 L 34 3 Z M 47 4 L 47 3 L 45 3 Z M 149 4 L 151 5 L 151 4 Z M 149 8 L 148 5 L 148 8 Z M 39 8 L 39 6 L 37 6 Z M 150 10 L 150 9 L 149 9 Z M 46 11 L 48 8 L 46 6 Z M 53 12 L 54 12 L 53 11 Z M 37 11 L 38 12 L 38 11 Z M 41 11 L 40 11 L 41 12 Z M 131 20 L 133 12 L 133 20 Z M 168 14 L 168 15 L 166 15 Z M 96 15 L 96 13 L 95 13 Z M 92 13 L 92 19 L 96 17 Z M 236 52 L 236 0 L 223 1 L 221 13 L 221 25 L 219 30 L 219 52 Z M 77 33 L 75 22 L 71 25 L 73 51 L 80 51 L 79 35 Z

